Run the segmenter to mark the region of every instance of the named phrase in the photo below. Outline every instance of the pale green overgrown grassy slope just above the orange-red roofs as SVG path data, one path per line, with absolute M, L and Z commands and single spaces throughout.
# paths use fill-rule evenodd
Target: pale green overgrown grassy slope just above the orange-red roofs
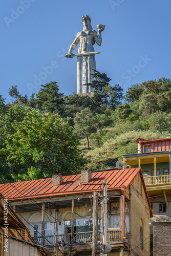
M 87 141 L 81 140 L 81 149 L 84 153 L 84 157 L 88 160 L 88 168 L 93 170 L 115 167 L 118 160 L 122 160 L 122 154 L 134 154 L 137 153 L 138 145 L 136 140 L 138 138 L 143 139 L 161 139 L 166 138 L 166 134 L 157 135 L 152 132 L 138 132 L 131 131 L 122 133 L 115 138 L 106 140 L 101 147 L 93 148 L 89 150 L 86 147 Z M 91 141 L 90 141 L 91 146 Z

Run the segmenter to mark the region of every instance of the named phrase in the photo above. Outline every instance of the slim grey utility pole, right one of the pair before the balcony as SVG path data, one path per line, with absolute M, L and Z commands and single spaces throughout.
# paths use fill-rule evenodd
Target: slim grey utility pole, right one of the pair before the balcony
M 103 205 L 102 205 L 102 209 L 103 209 L 103 218 L 102 218 L 102 227 L 103 227 L 103 244 L 107 243 L 107 226 L 108 226 L 108 216 L 107 216 L 107 204 L 108 204 L 108 194 L 107 194 L 107 186 L 108 186 L 108 181 L 104 180 L 104 187 L 103 187 Z M 106 256 L 107 254 L 102 254 L 103 256 Z

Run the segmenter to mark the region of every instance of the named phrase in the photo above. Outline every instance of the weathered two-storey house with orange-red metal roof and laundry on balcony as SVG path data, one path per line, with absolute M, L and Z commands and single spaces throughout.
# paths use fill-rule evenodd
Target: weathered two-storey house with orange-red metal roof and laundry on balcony
M 64 253 L 92 255 L 92 196 L 93 191 L 99 191 L 98 240 L 101 241 L 104 180 L 108 182 L 106 241 L 112 245 L 108 254 L 149 255 L 149 243 L 144 240 L 149 239 L 152 209 L 141 168 L 82 173 L 82 177 L 59 175 L 53 180 L 0 184 L 0 189 L 16 213 L 24 217 L 23 222 L 38 244 L 52 250 L 57 243 Z

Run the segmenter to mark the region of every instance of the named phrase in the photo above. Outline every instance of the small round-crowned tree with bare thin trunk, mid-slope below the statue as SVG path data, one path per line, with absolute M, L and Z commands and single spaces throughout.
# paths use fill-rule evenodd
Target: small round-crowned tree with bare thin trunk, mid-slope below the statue
M 89 148 L 89 135 L 97 131 L 96 117 L 93 115 L 89 108 L 77 112 L 74 118 L 74 128 L 78 135 L 86 136 Z

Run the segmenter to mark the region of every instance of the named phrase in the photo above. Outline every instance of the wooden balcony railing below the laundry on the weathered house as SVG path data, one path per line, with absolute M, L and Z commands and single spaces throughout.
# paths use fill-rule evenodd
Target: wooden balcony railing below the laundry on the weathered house
M 122 241 L 122 235 L 121 235 L 121 229 L 111 229 L 107 231 L 107 242 L 109 243 L 117 243 Z M 101 231 L 98 231 L 98 241 L 101 241 L 102 233 Z M 79 244 L 91 244 L 92 243 L 92 237 L 93 237 L 93 231 L 89 232 L 78 232 L 74 233 L 73 240 L 71 239 L 71 233 L 69 234 L 58 234 L 57 236 L 45 236 L 44 241 L 42 244 L 41 237 L 34 237 L 34 241 L 39 245 L 44 246 L 52 246 L 55 245 L 57 242 L 58 246 L 61 246 L 61 243 L 63 243 L 63 246 L 66 246 L 68 243 L 72 245 L 79 245 Z M 71 241 L 72 240 L 72 241 Z

